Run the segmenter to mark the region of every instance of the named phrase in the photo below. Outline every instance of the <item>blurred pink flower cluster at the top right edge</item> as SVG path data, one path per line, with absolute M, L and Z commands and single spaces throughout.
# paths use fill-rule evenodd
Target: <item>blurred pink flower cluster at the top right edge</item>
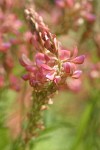
M 84 21 L 93 22 L 96 17 L 93 14 L 92 2 L 89 0 L 55 0 L 59 8 L 66 9 L 67 15 L 71 17 L 74 26 L 79 26 Z

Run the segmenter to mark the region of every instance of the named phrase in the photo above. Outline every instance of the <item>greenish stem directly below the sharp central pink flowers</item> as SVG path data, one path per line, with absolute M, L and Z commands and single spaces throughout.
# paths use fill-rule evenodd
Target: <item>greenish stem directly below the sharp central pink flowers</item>
M 27 143 L 31 138 L 37 137 L 39 130 L 44 129 L 42 121 L 42 111 L 47 109 L 50 94 L 55 92 L 53 85 L 48 89 L 42 91 L 33 91 L 32 93 L 32 106 L 28 114 L 28 124 L 25 133 L 25 142 Z M 52 89 L 52 91 L 50 90 Z M 51 91 L 51 92 L 49 92 Z

